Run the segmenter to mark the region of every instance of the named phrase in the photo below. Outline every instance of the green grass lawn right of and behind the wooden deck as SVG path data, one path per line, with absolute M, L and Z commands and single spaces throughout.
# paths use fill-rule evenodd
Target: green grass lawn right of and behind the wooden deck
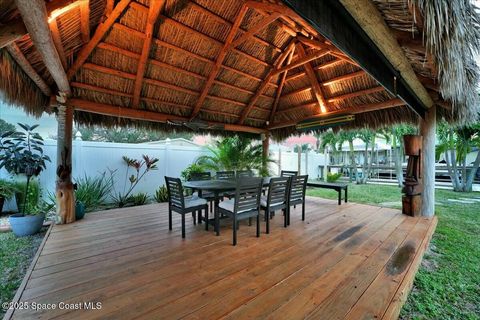
M 337 199 L 332 190 L 308 195 Z M 350 185 L 349 201 L 400 208 L 400 188 Z M 480 197 L 479 192 L 436 192 L 438 225 L 401 319 L 480 319 L 480 203 L 447 199 Z

